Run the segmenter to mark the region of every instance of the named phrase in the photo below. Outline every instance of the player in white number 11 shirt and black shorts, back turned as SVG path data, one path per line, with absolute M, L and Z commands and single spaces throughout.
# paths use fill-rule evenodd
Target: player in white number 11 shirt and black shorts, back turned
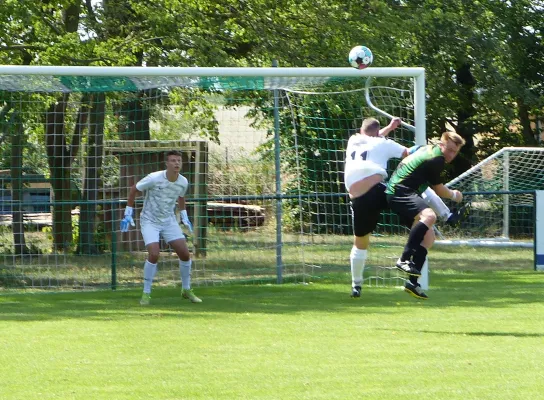
M 360 132 L 350 137 L 346 148 L 344 183 L 351 199 L 354 231 L 350 253 L 352 297 L 361 296 L 370 234 L 376 228 L 380 213 L 387 207 L 383 184 L 387 178 L 387 162 L 408 154 L 406 147 L 386 138 L 399 125 L 400 118 L 393 118 L 389 125 L 380 129 L 378 120 L 367 118 Z

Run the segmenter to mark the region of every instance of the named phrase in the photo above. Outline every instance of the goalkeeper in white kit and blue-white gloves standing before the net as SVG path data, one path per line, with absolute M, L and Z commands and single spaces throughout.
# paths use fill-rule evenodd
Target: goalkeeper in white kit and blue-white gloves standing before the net
M 193 227 L 185 210 L 185 193 L 189 187 L 187 179 L 180 175 L 181 153 L 166 153 L 166 170 L 147 175 L 130 188 L 125 217 L 121 221 L 121 232 L 127 232 L 129 225 L 134 226 L 132 218 L 136 196 L 144 192 L 144 206 L 140 214 L 140 226 L 147 248 L 147 260 L 144 264 L 144 290 L 140 304 L 148 305 L 151 301 L 151 285 L 157 272 L 159 260 L 160 236 L 170 245 L 179 257 L 183 298 L 193 303 L 200 300 L 191 289 L 191 255 L 187 241 L 174 213 L 176 203 L 180 210 L 181 222 L 192 233 Z

